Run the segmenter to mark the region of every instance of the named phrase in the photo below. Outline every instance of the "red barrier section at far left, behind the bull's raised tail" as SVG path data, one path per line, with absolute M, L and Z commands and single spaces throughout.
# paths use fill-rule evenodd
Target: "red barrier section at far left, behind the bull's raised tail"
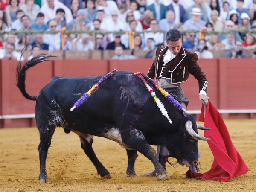
M 22 96 L 16 87 L 15 70 L 18 61 L 1 61 L 1 113 L 0 115 L 35 113 L 35 101 L 28 100 Z M 37 96 L 38 92 L 53 77 L 53 61 L 46 61 L 28 70 L 26 76 L 26 91 L 31 96 Z M 17 119 L 2 119 L 1 127 L 16 125 Z M 28 122 L 29 124 L 31 122 Z M 19 122 L 17 122 L 19 126 Z M 27 123 L 26 125 L 27 126 Z

